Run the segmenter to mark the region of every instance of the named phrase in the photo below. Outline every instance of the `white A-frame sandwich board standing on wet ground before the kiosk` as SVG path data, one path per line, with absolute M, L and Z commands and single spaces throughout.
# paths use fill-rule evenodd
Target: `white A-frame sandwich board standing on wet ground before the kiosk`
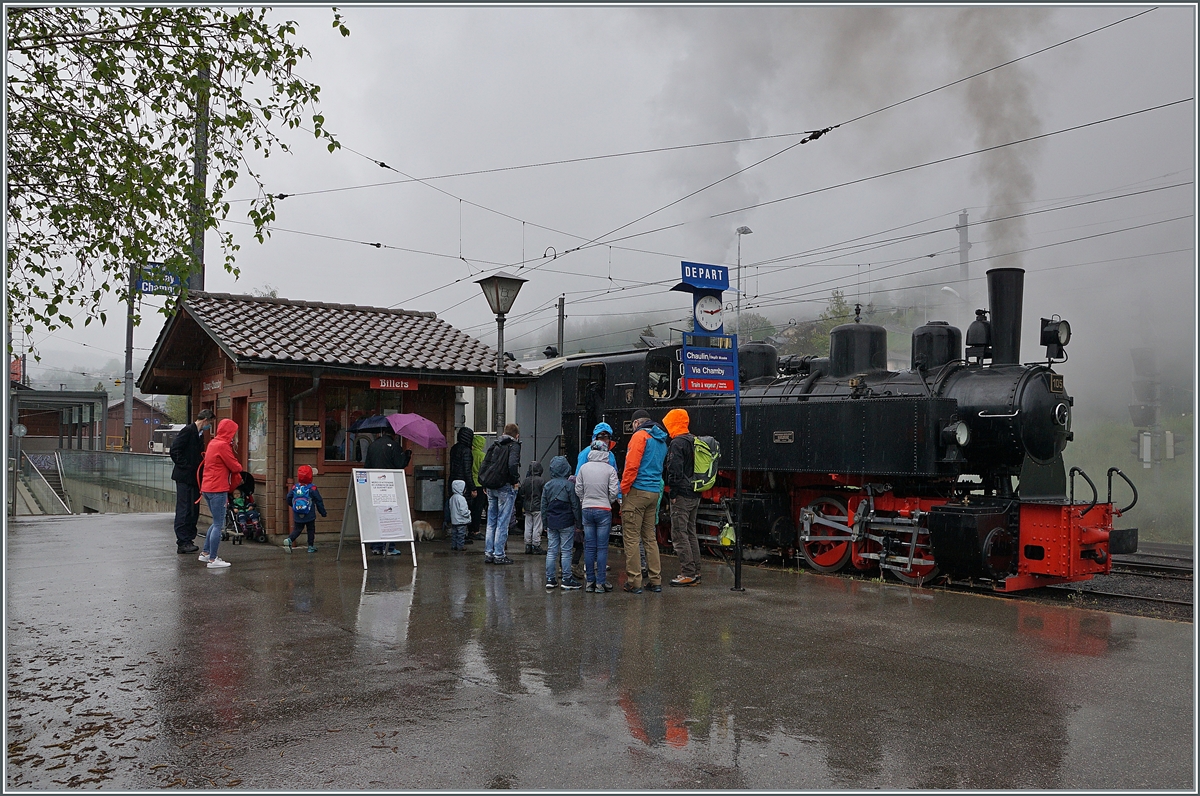
M 402 469 L 350 471 L 350 489 L 342 514 L 342 533 L 337 539 L 337 559 L 347 534 L 358 534 L 362 547 L 362 569 L 367 568 L 367 545 L 407 541 L 416 565 L 416 537 L 408 508 L 408 487 Z

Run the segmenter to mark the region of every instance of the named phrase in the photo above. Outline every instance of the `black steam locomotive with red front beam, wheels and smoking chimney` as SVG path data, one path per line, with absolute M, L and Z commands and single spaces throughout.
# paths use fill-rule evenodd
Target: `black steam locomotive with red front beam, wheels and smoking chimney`
M 1088 580 L 1109 571 L 1112 553 L 1136 550 L 1135 528 L 1112 527 L 1136 502 L 1133 483 L 1110 468 L 1102 502 L 1086 473 L 1068 478 L 1063 465 L 1074 401 L 1054 365 L 1066 361 L 1069 324 L 1043 318 L 1045 360 L 1020 361 L 1024 276 L 988 271 L 991 311 L 977 311 L 965 357 L 961 331 L 931 322 L 913 331 L 911 369 L 889 371 L 887 331 L 857 310 L 832 331 L 828 357 L 740 347 L 739 533 L 749 557 L 776 551 L 821 571 L 880 569 L 913 583 L 942 573 L 1016 591 Z M 692 431 L 721 444 L 700 525 L 702 543 L 715 545 L 732 519 L 734 402 L 682 388 L 680 346 L 547 363 L 518 395 L 524 450 L 575 456 L 606 421 L 620 462 L 635 409 L 660 418 L 685 407 Z M 1076 475 L 1091 490 L 1084 502 Z M 1133 491 L 1122 509 L 1114 475 Z

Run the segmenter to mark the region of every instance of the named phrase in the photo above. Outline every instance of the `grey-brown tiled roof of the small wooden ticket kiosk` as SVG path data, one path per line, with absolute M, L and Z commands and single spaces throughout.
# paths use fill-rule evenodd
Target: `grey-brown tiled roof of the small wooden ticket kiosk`
M 496 349 L 433 312 L 193 291 L 187 312 L 238 359 L 494 373 Z M 505 376 L 530 376 L 506 363 Z

